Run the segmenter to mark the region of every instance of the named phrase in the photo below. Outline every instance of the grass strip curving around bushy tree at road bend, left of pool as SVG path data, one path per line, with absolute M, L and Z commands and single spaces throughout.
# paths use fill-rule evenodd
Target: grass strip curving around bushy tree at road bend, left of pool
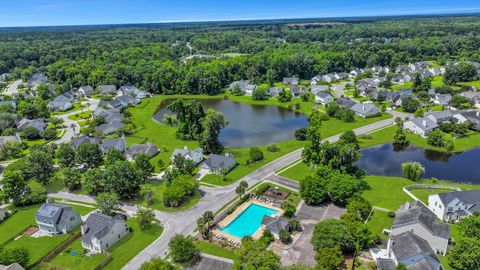
M 177 211 L 184 211 L 187 209 L 190 209 L 192 206 L 198 203 L 201 199 L 200 192 L 196 192 L 193 197 L 188 199 L 186 202 L 184 202 L 181 206 L 179 207 L 166 207 L 163 205 L 163 191 L 166 188 L 166 184 L 160 183 L 157 181 L 151 181 L 150 184 L 153 186 L 153 204 L 148 205 L 146 201 L 135 201 L 135 204 L 143 205 L 143 206 L 148 206 L 150 208 L 159 210 L 159 211 L 164 211 L 164 212 L 177 212 Z

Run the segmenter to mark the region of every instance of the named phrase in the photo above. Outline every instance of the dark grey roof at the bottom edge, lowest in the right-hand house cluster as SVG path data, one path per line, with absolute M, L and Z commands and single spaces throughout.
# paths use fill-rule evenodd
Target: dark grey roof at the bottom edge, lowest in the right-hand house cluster
M 399 263 L 405 264 L 409 270 L 438 269 L 441 265 L 428 242 L 410 231 L 392 236 L 391 241 L 395 258 Z

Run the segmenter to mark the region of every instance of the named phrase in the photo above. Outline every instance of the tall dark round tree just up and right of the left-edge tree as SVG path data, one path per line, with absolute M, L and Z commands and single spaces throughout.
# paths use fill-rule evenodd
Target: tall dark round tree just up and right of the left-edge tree
M 50 153 L 33 150 L 27 157 L 27 168 L 38 183 L 46 185 L 53 175 L 53 158 Z

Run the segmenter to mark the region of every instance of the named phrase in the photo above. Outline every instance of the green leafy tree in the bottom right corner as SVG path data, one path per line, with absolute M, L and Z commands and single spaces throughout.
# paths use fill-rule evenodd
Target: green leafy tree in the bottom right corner
M 480 269 L 480 241 L 463 237 L 447 253 L 449 265 L 458 270 Z

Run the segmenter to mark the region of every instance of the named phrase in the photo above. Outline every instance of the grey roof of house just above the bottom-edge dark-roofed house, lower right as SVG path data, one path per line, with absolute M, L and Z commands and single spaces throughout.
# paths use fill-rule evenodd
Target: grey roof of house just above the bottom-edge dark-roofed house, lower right
M 450 226 L 437 221 L 435 213 L 420 201 L 407 202 L 397 210 L 392 229 L 422 224 L 432 235 L 446 238 L 450 237 Z

